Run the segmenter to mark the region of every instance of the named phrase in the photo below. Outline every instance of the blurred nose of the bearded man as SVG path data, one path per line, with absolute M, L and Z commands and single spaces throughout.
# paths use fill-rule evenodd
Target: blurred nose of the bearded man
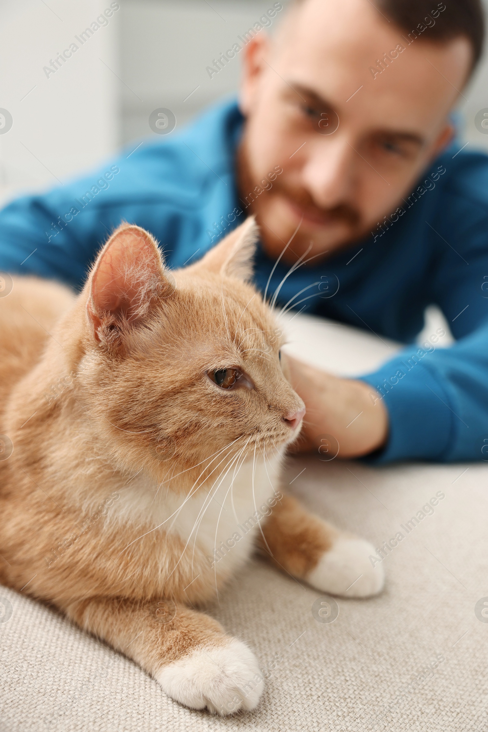
M 337 136 L 336 136 L 337 135 Z M 320 137 L 320 135 L 318 135 Z M 302 176 L 317 206 L 332 209 L 350 200 L 356 152 L 339 130 L 312 143 Z

